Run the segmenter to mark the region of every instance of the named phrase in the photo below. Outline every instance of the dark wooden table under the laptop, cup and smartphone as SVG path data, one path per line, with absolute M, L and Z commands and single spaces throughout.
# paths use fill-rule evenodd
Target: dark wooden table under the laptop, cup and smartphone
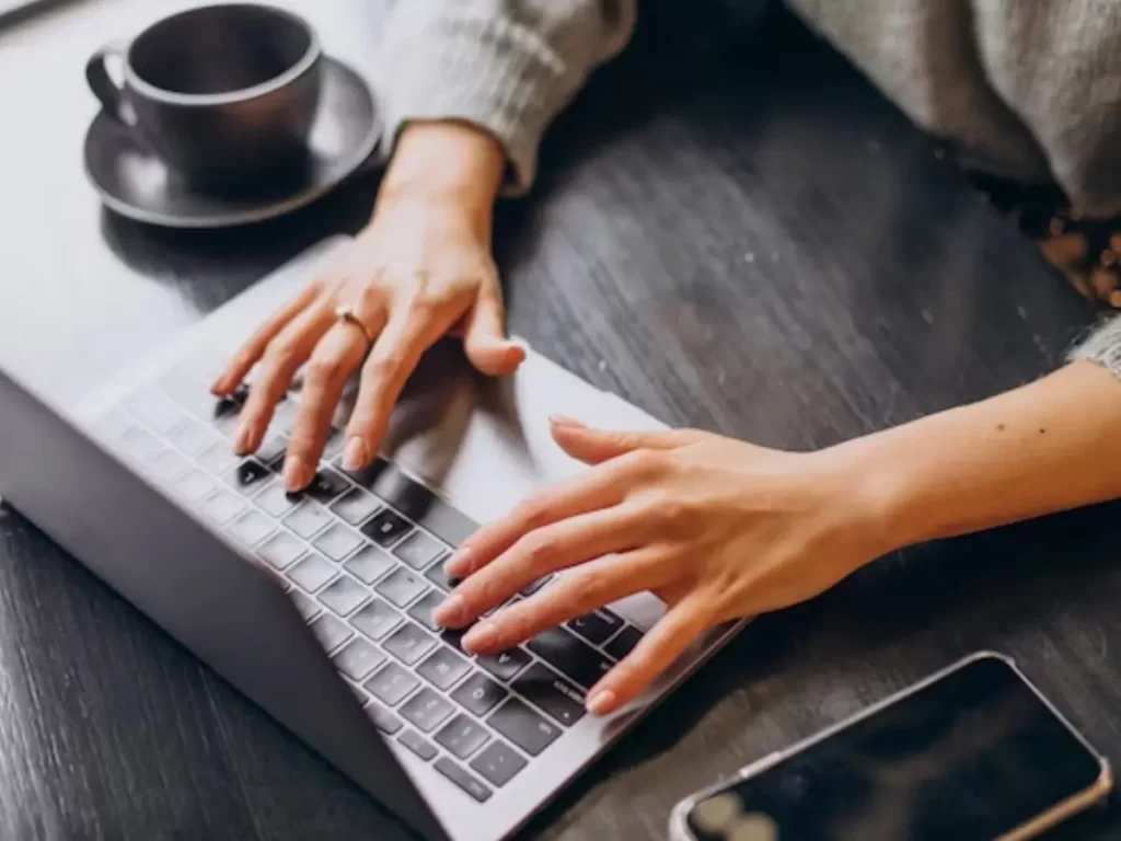
M 367 176 L 219 234 L 102 213 L 80 164 L 85 57 L 176 4 L 86 0 L 0 34 L 0 360 L 71 401 L 305 244 L 354 230 L 376 188 Z M 515 330 L 666 420 L 787 447 L 1060 362 L 1092 313 L 842 62 L 782 17 L 757 31 L 734 3 L 688 21 L 661 6 L 550 136 L 535 197 L 502 209 Z M 368 61 L 376 4 L 304 11 L 330 49 Z M 753 623 L 526 835 L 663 838 L 702 783 L 982 647 L 1013 655 L 1121 759 L 1115 518 L 910 549 Z M 379 820 L 0 509 L 0 838 L 378 838 Z M 1105 812 L 1063 834 L 1119 825 Z

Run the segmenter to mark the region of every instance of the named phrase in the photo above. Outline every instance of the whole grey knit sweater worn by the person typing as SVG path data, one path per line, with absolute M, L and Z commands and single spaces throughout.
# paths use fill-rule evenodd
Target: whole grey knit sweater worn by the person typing
M 1121 2 L 787 4 L 969 165 L 1121 214 Z M 637 0 L 396 0 L 374 77 L 386 153 L 409 120 L 464 120 L 502 144 L 508 192 L 529 190 L 541 136 L 627 45 L 636 15 Z M 1121 378 L 1121 321 L 1072 355 Z

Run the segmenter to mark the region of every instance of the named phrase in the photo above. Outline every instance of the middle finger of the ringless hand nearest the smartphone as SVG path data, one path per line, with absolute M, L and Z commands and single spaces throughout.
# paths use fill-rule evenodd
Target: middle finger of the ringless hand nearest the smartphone
M 617 506 L 560 520 L 531 532 L 455 588 L 433 618 L 462 628 L 538 579 L 634 546 L 649 517 L 634 506 Z

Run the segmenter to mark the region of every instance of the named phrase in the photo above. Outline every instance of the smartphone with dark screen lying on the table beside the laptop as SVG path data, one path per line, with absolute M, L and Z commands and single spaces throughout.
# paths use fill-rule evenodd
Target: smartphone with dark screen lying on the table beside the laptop
M 677 804 L 677 841 L 1022 841 L 1102 801 L 1109 763 L 981 651 Z

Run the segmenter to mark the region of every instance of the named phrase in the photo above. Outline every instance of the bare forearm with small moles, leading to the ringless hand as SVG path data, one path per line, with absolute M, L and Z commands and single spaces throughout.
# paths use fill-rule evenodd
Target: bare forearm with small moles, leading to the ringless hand
M 1121 497 L 1121 382 L 1075 362 L 998 397 L 834 450 L 884 547 Z

